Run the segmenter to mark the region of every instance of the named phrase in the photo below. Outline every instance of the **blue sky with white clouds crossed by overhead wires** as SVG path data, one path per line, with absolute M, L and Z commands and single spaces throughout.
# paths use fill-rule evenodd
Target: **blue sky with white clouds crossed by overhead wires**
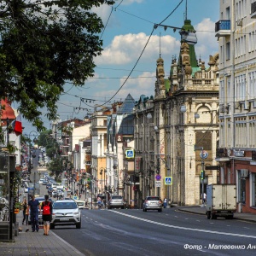
M 219 0 L 187 0 L 187 12 L 186 0 L 116 0 L 113 7 L 103 5 L 93 11 L 105 26 L 101 34 L 102 55 L 95 59 L 94 78 L 82 87 L 65 85 L 57 104 L 62 121 L 84 119 L 96 106 L 109 107 L 125 100 L 129 93 L 136 101 L 141 95 L 154 96 L 156 60 L 161 56 L 165 61 L 167 79 L 172 58 L 178 57 L 180 49 L 178 29 L 174 32 L 172 28 L 154 28 L 155 24 L 182 27 L 187 15 L 196 31 L 197 59 L 201 57 L 207 66 L 209 55 L 218 53 L 214 30 L 219 19 Z M 49 120 L 43 119 L 49 129 Z M 27 134 L 36 130 L 25 119 L 22 125 Z

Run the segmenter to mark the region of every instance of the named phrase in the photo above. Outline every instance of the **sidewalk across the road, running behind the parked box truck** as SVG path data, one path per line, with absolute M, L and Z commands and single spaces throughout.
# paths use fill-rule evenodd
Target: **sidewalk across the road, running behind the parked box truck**
M 198 207 L 177 207 L 177 208 L 181 212 L 190 212 L 195 214 L 206 215 L 206 207 L 198 206 Z M 207 215 L 206 215 L 206 218 L 207 218 Z M 256 223 L 256 214 L 253 214 L 253 213 L 235 212 L 234 218 Z

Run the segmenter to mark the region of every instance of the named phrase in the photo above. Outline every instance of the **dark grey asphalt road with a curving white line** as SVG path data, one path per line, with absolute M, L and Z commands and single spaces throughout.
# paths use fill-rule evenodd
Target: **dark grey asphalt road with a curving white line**
M 256 224 L 164 209 L 82 210 L 82 228 L 55 227 L 85 255 L 254 255 Z

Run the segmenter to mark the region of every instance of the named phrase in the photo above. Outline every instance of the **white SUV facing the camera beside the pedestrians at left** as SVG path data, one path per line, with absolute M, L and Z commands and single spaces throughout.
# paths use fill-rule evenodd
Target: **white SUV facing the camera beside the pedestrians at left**
M 57 200 L 53 205 L 52 220 L 50 229 L 55 229 L 56 225 L 75 225 L 81 228 L 81 212 L 78 204 L 73 200 Z

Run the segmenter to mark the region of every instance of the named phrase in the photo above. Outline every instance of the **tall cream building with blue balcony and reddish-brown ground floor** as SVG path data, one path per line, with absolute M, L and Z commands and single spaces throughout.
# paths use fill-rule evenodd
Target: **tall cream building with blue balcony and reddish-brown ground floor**
M 219 1 L 221 183 L 236 183 L 239 212 L 256 212 L 256 1 Z

